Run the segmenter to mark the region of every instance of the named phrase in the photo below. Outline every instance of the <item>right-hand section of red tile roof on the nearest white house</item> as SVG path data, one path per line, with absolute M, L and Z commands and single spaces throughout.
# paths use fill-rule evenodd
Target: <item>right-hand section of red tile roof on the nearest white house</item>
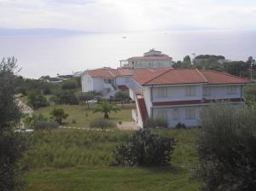
M 240 78 L 233 76 L 226 72 L 217 71 L 201 71 L 205 78 L 207 78 L 208 84 L 245 84 L 250 83 L 250 80 L 246 78 Z

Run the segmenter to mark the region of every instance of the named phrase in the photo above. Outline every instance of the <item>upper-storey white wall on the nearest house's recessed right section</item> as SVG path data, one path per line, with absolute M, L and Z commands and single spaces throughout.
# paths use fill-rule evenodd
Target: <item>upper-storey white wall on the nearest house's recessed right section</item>
M 231 86 L 231 85 L 230 85 Z M 234 86 L 234 85 L 233 85 Z M 204 87 L 210 87 L 210 96 L 203 96 L 203 98 L 206 99 L 230 99 L 230 98 L 241 98 L 241 85 L 235 85 L 236 86 L 236 94 L 228 94 L 227 93 L 227 87 L 229 86 L 203 86 Z

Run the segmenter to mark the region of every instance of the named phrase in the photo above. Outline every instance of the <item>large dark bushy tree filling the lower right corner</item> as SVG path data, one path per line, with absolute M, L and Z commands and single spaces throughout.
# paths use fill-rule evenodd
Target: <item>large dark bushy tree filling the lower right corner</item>
M 207 107 L 201 113 L 202 132 L 196 176 L 206 191 L 256 188 L 256 107 Z

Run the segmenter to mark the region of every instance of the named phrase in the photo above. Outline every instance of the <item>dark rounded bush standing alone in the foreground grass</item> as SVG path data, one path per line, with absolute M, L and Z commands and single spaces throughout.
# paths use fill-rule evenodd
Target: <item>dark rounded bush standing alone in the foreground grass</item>
M 172 137 L 137 130 L 113 153 L 117 165 L 169 165 L 174 145 Z

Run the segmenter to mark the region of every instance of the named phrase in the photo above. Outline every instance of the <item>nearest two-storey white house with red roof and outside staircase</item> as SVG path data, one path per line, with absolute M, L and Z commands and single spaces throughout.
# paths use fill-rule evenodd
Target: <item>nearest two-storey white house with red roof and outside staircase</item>
M 212 102 L 243 106 L 243 87 L 250 83 L 228 73 L 197 69 L 162 68 L 140 72 L 131 78 L 140 87 L 130 90 L 137 105 L 132 117 L 142 128 L 148 117 L 165 118 L 170 127 L 177 123 L 199 125 L 201 107 Z

